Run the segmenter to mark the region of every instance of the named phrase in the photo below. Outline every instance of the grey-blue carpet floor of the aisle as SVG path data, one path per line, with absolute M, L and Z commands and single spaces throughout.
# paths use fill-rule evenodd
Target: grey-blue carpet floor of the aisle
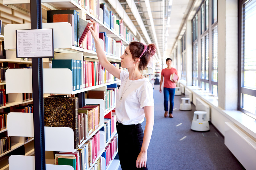
M 163 90 L 163 89 L 162 89 Z M 212 124 L 209 132 L 190 130 L 195 106 L 181 111 L 182 96 L 174 97 L 173 118 L 164 117 L 164 95 L 154 88 L 154 129 L 148 147 L 149 170 L 240 170 L 244 167 L 224 144 Z M 145 128 L 146 121 L 142 123 Z M 121 170 L 121 166 L 118 168 Z

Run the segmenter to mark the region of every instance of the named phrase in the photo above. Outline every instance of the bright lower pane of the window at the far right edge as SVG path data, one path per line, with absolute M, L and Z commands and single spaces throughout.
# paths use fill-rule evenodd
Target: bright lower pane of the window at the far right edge
M 256 114 L 256 97 L 243 94 L 243 106 L 242 108 L 246 111 Z

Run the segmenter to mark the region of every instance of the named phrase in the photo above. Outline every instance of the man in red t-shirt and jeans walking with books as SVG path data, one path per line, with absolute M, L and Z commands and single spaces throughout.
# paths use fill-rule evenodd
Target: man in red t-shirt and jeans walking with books
M 170 95 L 170 110 L 169 117 L 173 117 L 173 99 L 175 94 L 176 82 L 179 80 L 178 72 L 175 68 L 172 67 L 172 59 L 166 59 L 167 68 L 164 68 L 161 72 L 161 81 L 159 91 L 162 93 L 162 83 L 164 79 L 164 117 L 168 116 L 168 98 Z

